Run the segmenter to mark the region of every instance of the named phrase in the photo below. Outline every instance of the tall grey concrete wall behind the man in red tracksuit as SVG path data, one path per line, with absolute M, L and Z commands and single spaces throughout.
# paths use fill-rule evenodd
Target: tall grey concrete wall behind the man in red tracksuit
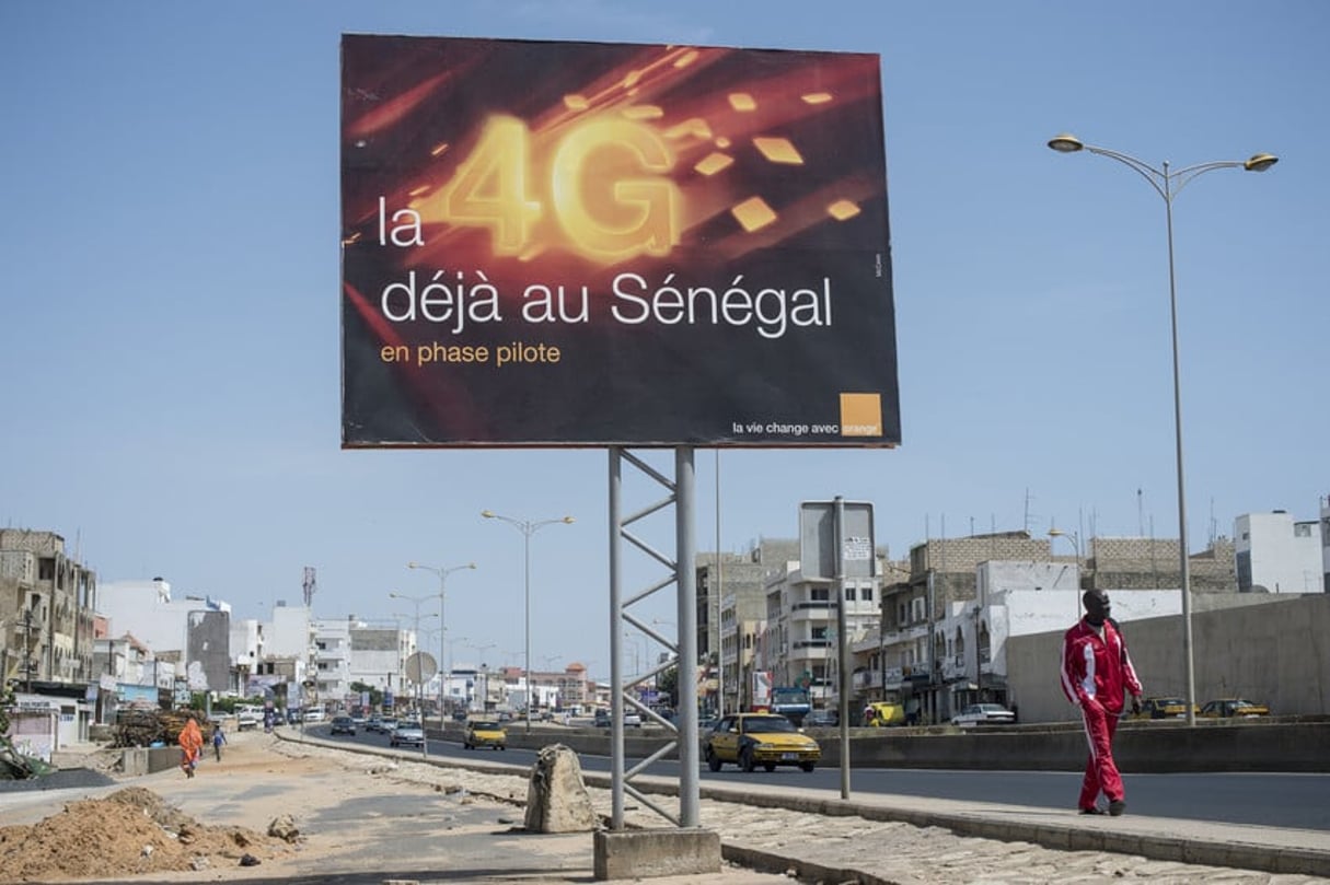
M 1123 630 L 1145 694 L 1185 695 L 1182 618 L 1133 621 Z M 1057 682 L 1061 638 L 1053 631 L 1007 642 L 1007 683 L 1023 723 L 1079 719 Z M 1278 598 L 1241 614 L 1193 606 L 1192 638 L 1198 704 L 1242 696 L 1275 715 L 1330 712 L 1330 594 Z

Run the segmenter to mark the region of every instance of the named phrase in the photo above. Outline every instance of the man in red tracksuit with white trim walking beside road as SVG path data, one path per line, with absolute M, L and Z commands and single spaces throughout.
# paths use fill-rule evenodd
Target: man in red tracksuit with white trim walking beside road
M 1089 740 L 1079 805 L 1083 815 L 1103 815 L 1097 805 L 1103 792 L 1108 797 L 1108 813 L 1117 816 L 1127 811 L 1127 800 L 1123 777 L 1113 761 L 1113 732 L 1127 692 L 1132 695 L 1132 711 L 1140 711 L 1141 680 L 1127 654 L 1127 640 L 1109 617 L 1108 594 L 1087 590 L 1081 602 L 1085 617 L 1063 637 L 1061 666 L 1063 691 L 1081 708 Z

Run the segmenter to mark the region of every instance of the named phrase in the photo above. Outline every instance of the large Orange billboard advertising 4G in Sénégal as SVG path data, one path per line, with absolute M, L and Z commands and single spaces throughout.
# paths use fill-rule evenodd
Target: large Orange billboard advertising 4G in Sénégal
M 342 445 L 900 441 L 876 54 L 344 35 Z

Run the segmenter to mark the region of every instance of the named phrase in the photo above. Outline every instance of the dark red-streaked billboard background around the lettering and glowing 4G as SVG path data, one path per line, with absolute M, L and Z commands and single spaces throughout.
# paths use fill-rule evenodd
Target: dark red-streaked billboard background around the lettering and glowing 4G
M 670 58 L 693 52 L 692 70 Z M 625 72 L 644 76 L 618 89 Z M 630 80 L 630 77 L 629 77 Z M 645 92 L 644 92 L 645 89 Z M 835 101 L 810 108 L 810 90 Z M 440 187 L 475 146 L 488 114 L 557 132 L 579 117 L 567 94 L 602 96 L 587 113 L 649 104 L 662 132 L 706 121 L 706 137 L 673 142 L 676 182 L 686 205 L 678 245 L 666 255 L 597 262 L 545 243 L 533 258 L 500 256 L 487 230 L 423 225 L 423 246 L 380 246 L 380 198 L 403 206 Z M 629 94 L 633 93 L 633 94 Z M 735 94 L 771 109 L 741 114 Z M 822 94 L 822 93 L 818 93 Z M 677 109 L 677 110 L 676 110 Z M 560 117 L 560 113 L 563 117 Z M 583 114 L 585 116 L 585 114 Z M 543 122 L 544 121 L 544 122 Z M 721 134 L 725 133 L 725 134 Z M 798 166 L 766 161 L 753 136 L 797 146 Z M 442 154 L 436 146 L 447 145 Z M 733 165 L 710 178 L 697 162 L 721 151 Z M 422 187 L 424 182 L 424 187 Z M 851 195 L 853 218 L 821 203 Z M 729 209 L 759 195 L 778 217 L 747 231 Z M 817 206 L 814 206 L 817 205 Z M 814 211 L 815 210 L 815 211 Z M 618 44 L 564 44 L 420 37 L 343 37 L 343 445 L 891 445 L 900 439 L 895 324 L 875 56 Z M 410 271 L 444 271 L 496 286 L 501 323 L 395 323 L 380 310 L 384 286 Z M 771 340 L 755 324 L 617 323 L 610 280 L 634 274 L 648 290 L 720 291 L 733 280 L 831 291 L 830 327 L 789 328 Z M 583 286 L 581 323 L 525 323 L 516 294 L 531 283 Z M 513 342 L 560 348 L 559 363 L 388 363 L 384 345 L 488 345 Z M 882 432 L 815 433 L 839 425 L 842 393 L 875 393 Z

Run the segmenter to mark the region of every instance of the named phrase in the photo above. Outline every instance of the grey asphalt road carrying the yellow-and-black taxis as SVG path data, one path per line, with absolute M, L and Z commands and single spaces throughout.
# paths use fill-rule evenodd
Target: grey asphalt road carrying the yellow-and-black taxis
M 329 736 L 327 726 L 306 726 L 313 735 Z M 557 732 L 552 732 L 557 735 Z M 386 735 L 358 732 L 338 740 L 386 747 Z M 475 759 L 460 743 L 431 740 L 431 756 Z M 536 753 L 508 749 L 500 761 L 529 765 Z M 608 772 L 608 756 L 581 756 L 587 771 Z M 678 777 L 678 764 L 660 761 L 648 773 Z M 811 773 L 794 768 L 745 775 L 732 765 L 720 772 L 701 771 L 702 783 L 759 779 L 759 783 L 789 783 L 791 787 L 814 787 L 839 791 L 837 768 L 818 768 Z M 1182 775 L 1133 775 L 1125 772 L 1128 808 L 1136 815 L 1177 820 L 1216 821 L 1257 827 L 1289 827 L 1330 831 L 1330 775 L 1269 772 L 1205 772 Z M 1080 775 L 1065 771 L 938 771 L 916 768 L 854 768 L 850 777 L 854 795 L 902 795 L 952 799 L 978 803 L 1000 803 L 1029 808 L 1063 809 L 1076 804 Z

